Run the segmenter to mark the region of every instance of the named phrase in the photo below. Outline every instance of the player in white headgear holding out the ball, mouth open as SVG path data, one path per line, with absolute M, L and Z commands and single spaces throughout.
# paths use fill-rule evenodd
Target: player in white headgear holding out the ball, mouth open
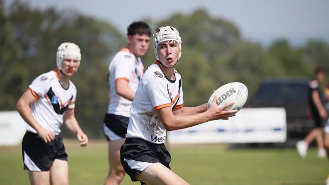
M 172 26 L 156 29 L 153 34 L 155 62 L 148 67 L 136 90 L 130 110 L 121 164 L 132 181 L 146 184 L 188 184 L 171 171 L 171 156 L 166 149 L 166 130 L 178 130 L 215 119 L 228 119 L 237 111 L 224 111 L 213 102 L 197 107 L 183 107 L 179 62 L 182 41 Z M 214 99 L 216 100 L 216 99 Z

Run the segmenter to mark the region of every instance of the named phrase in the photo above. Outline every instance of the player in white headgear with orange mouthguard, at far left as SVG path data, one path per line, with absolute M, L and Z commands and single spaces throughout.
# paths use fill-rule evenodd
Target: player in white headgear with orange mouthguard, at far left
M 80 60 L 76 44 L 62 43 L 57 50 L 57 69 L 36 77 L 17 102 L 27 123 L 22 154 L 31 184 L 68 184 L 67 154 L 59 135 L 63 122 L 82 147 L 88 144 L 74 116 L 76 88 L 70 81 Z

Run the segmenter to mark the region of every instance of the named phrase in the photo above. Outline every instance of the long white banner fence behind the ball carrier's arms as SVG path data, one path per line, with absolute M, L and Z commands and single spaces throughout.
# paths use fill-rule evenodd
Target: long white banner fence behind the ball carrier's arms
M 284 108 L 243 108 L 229 120 L 167 132 L 169 144 L 281 143 L 285 140 Z

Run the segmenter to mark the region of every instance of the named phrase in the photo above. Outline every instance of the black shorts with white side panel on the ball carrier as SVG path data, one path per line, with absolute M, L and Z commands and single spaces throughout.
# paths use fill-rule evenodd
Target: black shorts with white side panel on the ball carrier
M 153 163 L 161 163 L 170 169 L 172 160 L 164 144 L 154 144 L 141 138 L 126 138 L 120 149 L 121 164 L 132 181 L 135 177 Z

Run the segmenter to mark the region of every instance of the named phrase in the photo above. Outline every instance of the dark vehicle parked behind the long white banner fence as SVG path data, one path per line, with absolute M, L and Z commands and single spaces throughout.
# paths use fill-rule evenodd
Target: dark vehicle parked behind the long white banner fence
M 287 137 L 304 137 L 313 128 L 307 79 L 271 79 L 259 87 L 248 107 L 283 107 Z

